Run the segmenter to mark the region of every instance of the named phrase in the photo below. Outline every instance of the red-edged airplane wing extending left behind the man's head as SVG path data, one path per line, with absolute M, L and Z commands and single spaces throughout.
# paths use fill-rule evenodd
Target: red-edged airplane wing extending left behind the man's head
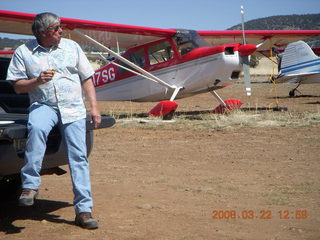
M 36 14 L 0 10 L 0 32 L 33 35 L 31 24 Z M 80 44 L 91 45 L 89 41 L 75 34 L 73 30 L 94 38 L 108 47 L 130 48 L 147 42 L 170 37 L 176 30 L 150 27 L 138 27 L 123 24 L 95 22 L 61 17 L 64 37 Z

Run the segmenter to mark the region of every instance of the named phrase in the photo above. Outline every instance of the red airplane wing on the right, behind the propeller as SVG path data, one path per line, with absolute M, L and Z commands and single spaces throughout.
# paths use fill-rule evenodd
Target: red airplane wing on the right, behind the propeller
M 224 45 L 229 43 L 242 43 L 242 31 L 198 31 L 200 36 L 211 46 Z M 246 43 L 258 45 L 266 39 L 259 50 L 266 50 L 272 47 L 284 47 L 288 43 L 296 42 L 306 38 L 320 36 L 320 30 L 246 30 Z

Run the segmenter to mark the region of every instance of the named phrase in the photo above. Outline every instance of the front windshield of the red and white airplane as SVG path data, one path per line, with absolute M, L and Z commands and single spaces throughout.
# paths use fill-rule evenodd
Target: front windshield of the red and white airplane
M 177 30 L 174 39 L 180 55 L 184 55 L 196 48 L 209 47 L 209 44 L 196 31 L 192 30 Z

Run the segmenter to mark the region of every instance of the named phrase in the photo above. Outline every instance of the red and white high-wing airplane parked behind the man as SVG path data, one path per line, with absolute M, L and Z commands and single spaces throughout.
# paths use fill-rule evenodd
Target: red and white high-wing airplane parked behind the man
M 0 32 L 32 35 L 34 17 L 0 10 Z M 240 101 L 223 101 L 215 90 L 238 80 L 244 70 L 247 95 L 251 95 L 249 55 L 257 48 L 283 47 L 320 35 L 320 30 L 159 29 L 63 17 L 61 25 L 66 38 L 103 52 L 99 54 L 107 64 L 94 77 L 98 100 L 161 101 L 149 114 L 165 117 L 177 108 L 174 99 L 203 92 L 213 93 L 222 107 L 240 105 Z

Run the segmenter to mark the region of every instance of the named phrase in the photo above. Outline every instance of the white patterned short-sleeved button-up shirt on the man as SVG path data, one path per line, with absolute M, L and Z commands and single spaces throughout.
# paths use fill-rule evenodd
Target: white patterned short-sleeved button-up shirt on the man
M 58 46 L 46 49 L 37 40 L 18 47 L 10 62 L 7 80 L 37 78 L 42 71 L 54 69 L 53 79 L 29 92 L 30 104 L 41 103 L 58 109 L 62 123 L 86 117 L 82 81 L 94 74 L 80 46 L 62 38 Z

